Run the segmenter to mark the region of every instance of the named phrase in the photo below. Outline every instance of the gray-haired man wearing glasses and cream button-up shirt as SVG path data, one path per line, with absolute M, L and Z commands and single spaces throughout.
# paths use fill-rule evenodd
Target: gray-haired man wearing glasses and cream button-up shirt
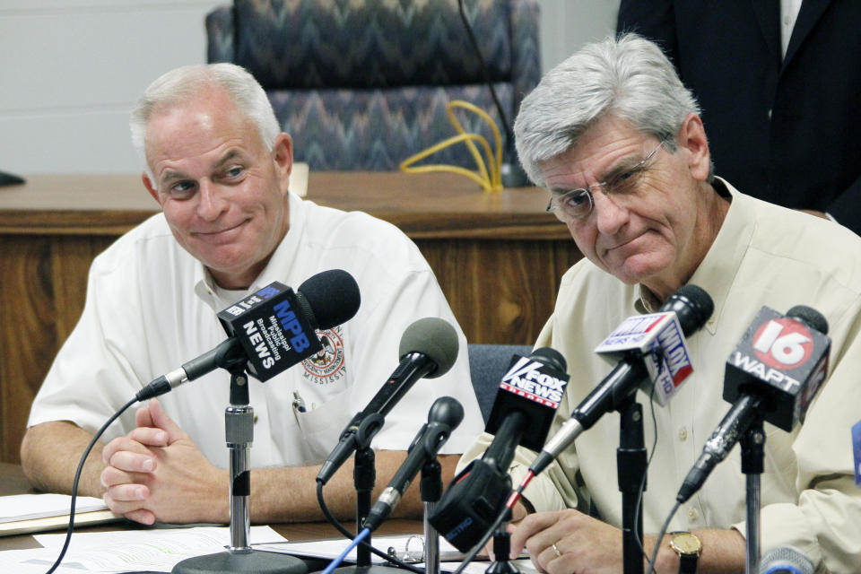
M 761 552 L 791 545 L 817 568 L 857 572 L 861 490 L 850 428 L 861 419 L 861 239 L 715 177 L 699 113 L 660 49 L 635 35 L 581 49 L 523 101 L 515 123 L 520 161 L 548 189 L 548 212 L 586 256 L 562 279 L 535 344 L 560 351 L 571 375 L 550 435 L 610 371 L 593 352 L 597 344 L 625 317 L 657 311 L 684 284 L 699 285 L 715 310 L 687 342 L 691 378 L 665 407 L 649 404 L 641 391 L 636 396 L 646 405 L 651 457 L 644 552 L 658 544 L 662 573 L 744 572 L 737 448 L 675 513 L 674 534 L 658 541 L 657 532 L 729 408 L 722 399 L 726 360 L 754 315 L 763 305 L 781 313 L 811 306 L 831 327 L 829 378 L 796 431 L 765 425 Z M 483 435 L 462 463 L 490 440 Z M 513 528 L 513 555 L 526 546 L 551 574 L 622 572 L 618 447 L 619 417 L 608 414 L 530 483 L 515 513 L 523 519 Z M 518 450 L 515 484 L 534 457 Z M 585 513 L 590 507 L 600 518 Z M 524 518 L 525 509 L 534 512 Z M 693 544 L 679 547 L 680 536 Z

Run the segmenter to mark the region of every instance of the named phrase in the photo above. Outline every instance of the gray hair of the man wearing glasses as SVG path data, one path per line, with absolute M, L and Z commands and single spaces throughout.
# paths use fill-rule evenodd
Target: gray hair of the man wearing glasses
M 526 174 L 544 186 L 541 162 L 574 147 L 604 116 L 626 120 L 675 152 L 675 135 L 697 100 L 656 44 L 624 34 L 588 44 L 544 75 L 514 123 Z

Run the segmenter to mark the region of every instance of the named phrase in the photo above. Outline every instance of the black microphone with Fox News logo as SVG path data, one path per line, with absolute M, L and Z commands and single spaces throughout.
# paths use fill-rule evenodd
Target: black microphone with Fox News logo
M 514 355 L 502 377 L 485 431 L 495 436 L 481 459 L 457 474 L 428 517 L 462 552 L 491 527 L 511 493 L 509 465 L 517 445 L 544 444 L 568 383 L 562 355 L 549 348 Z

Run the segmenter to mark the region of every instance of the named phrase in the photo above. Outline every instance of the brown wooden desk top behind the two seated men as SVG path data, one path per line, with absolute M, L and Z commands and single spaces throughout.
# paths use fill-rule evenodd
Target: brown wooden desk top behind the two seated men
M 158 211 L 136 175 L 33 175 L 0 187 L 0 232 L 119 234 Z M 311 172 L 308 198 L 361 210 L 417 238 L 570 239 L 537 187 L 485 192 L 452 173 Z

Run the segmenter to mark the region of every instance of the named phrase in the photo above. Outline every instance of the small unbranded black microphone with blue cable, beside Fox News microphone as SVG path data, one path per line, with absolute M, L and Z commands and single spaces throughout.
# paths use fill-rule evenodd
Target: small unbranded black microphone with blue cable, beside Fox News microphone
M 371 507 L 363 527 L 370 531 L 377 529 L 395 509 L 415 475 L 422 470 L 422 466 L 436 458 L 439 448 L 448 440 L 451 431 L 457 429 L 457 425 L 463 420 L 464 407 L 457 399 L 440 396 L 434 401 L 428 412 L 428 422 L 423 424 L 422 429 L 415 435 L 404 464 L 397 469 L 386 490 L 382 491 L 377 502 Z

